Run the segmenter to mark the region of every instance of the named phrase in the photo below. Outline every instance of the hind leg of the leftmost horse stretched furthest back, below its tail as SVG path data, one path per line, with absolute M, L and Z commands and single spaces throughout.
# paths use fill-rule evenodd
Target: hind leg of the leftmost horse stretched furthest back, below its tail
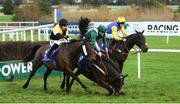
M 34 64 L 34 65 L 33 65 L 33 69 L 32 69 L 32 71 L 31 71 L 31 73 L 30 73 L 30 76 L 29 76 L 27 82 L 23 85 L 23 88 L 24 88 L 24 89 L 26 89 L 26 88 L 28 87 L 31 78 L 34 76 L 34 73 L 37 71 L 37 69 L 38 69 L 41 65 L 42 65 L 42 63 Z

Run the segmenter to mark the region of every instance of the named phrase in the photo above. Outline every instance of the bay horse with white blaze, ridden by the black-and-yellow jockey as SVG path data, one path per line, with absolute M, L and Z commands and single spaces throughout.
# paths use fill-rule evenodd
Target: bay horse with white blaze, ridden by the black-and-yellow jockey
M 86 52 L 83 51 L 82 46 L 85 46 Z M 43 62 L 42 57 L 45 54 L 45 51 L 49 48 L 49 45 L 43 46 L 35 46 L 32 50 L 31 54 L 27 56 L 24 61 L 28 62 L 32 60 L 33 69 L 30 73 L 30 76 L 27 82 L 23 85 L 23 88 L 27 88 L 29 82 L 38 68 L 45 64 L 47 67 L 47 71 L 44 74 L 44 89 L 46 88 L 46 81 L 48 75 L 51 73 L 53 69 L 58 69 L 59 71 L 63 71 L 68 77 L 73 77 L 76 81 L 78 81 L 81 86 L 87 90 L 87 87 L 79 80 L 77 76 L 74 75 L 73 69 L 75 68 L 76 58 L 81 53 L 86 53 L 89 61 L 95 60 L 95 55 L 91 48 L 90 42 L 85 40 L 73 40 L 70 43 L 63 43 L 59 46 L 58 51 L 55 53 L 55 61 L 54 62 Z M 67 87 L 67 92 L 69 89 Z

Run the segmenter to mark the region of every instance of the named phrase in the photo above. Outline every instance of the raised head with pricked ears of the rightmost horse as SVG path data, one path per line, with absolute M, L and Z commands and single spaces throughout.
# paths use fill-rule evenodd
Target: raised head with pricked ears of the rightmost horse
M 148 51 L 148 45 L 146 43 L 145 37 L 143 35 L 144 30 L 142 32 L 136 31 L 135 44 L 143 51 Z

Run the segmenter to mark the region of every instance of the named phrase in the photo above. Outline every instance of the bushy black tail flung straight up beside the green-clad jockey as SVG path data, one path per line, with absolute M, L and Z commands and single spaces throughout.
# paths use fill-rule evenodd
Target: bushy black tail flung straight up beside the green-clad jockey
M 83 38 L 83 35 L 87 32 L 89 23 L 91 20 L 87 17 L 81 17 L 79 20 L 79 30 L 80 30 L 80 39 Z

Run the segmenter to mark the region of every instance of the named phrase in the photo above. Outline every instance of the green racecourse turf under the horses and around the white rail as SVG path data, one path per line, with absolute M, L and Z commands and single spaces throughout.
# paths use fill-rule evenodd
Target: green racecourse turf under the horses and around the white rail
M 180 49 L 180 38 L 146 37 L 151 49 Z M 14 103 L 180 103 L 180 53 L 141 54 L 141 79 L 137 78 L 137 55 L 129 54 L 123 74 L 124 96 L 106 96 L 107 91 L 80 76 L 91 94 L 87 94 L 75 82 L 70 94 L 59 89 L 60 77 L 49 76 L 48 91 L 43 90 L 43 76 L 33 77 L 29 87 L 22 85 L 26 79 L 0 81 L 0 102 Z

